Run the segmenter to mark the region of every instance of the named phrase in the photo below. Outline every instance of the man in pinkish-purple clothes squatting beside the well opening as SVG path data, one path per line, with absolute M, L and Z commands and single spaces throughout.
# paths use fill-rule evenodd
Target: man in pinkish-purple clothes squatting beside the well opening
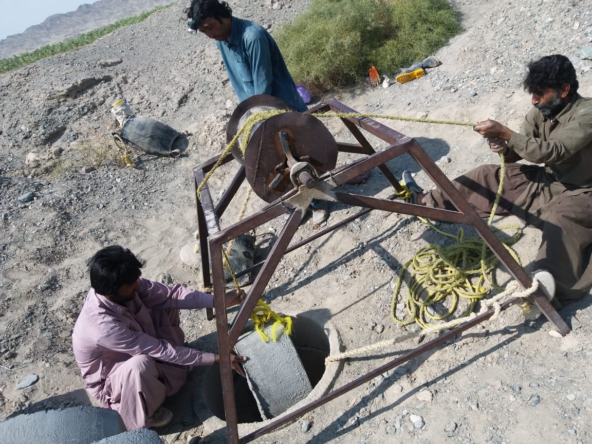
M 179 391 L 192 365 L 212 365 L 218 355 L 184 347 L 179 308 L 214 306 L 200 291 L 140 278 L 144 266 L 130 250 L 110 246 L 88 261 L 92 289 L 72 333 L 85 388 L 103 407 L 117 410 L 128 430 L 162 427 L 173 417 L 162 407 Z M 226 306 L 244 292 L 226 294 Z M 235 371 L 244 356 L 231 356 Z

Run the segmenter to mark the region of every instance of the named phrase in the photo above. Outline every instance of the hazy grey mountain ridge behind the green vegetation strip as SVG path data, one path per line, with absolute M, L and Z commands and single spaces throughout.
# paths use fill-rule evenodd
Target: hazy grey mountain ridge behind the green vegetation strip
M 121 18 L 141 14 L 174 1 L 99 0 L 93 4 L 80 5 L 76 11 L 50 15 L 41 24 L 28 27 L 21 34 L 0 40 L 0 58 L 30 52 L 46 44 L 58 43 L 104 27 Z M 189 1 L 186 3 L 189 4 Z

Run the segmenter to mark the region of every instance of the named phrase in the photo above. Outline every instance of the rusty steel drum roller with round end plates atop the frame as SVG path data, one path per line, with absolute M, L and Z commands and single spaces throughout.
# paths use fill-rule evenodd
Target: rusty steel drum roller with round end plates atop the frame
M 269 110 L 289 112 L 259 122 L 250 134 L 244 157 L 238 143 L 232 154 L 244 166 L 255 194 L 273 202 L 294 188 L 294 168 L 301 182 L 312 186 L 311 179 L 335 168 L 338 150 L 333 135 L 320 120 L 293 111 L 281 99 L 265 94 L 240 102 L 226 126 L 227 140 L 236 136 L 250 115 Z

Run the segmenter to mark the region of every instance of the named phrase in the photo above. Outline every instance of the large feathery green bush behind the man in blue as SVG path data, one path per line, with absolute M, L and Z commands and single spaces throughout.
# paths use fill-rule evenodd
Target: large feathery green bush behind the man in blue
M 372 65 L 395 75 L 459 30 L 446 0 L 311 0 L 275 39 L 294 81 L 318 94 L 368 76 Z

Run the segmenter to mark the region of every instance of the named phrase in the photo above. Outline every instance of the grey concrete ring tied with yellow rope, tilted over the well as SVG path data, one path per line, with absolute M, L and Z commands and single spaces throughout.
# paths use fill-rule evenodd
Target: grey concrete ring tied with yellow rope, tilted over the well
M 265 328 L 271 337 L 272 324 Z M 249 359 L 243 363 L 249 387 L 263 419 L 278 416 L 313 390 L 294 343 L 284 327 L 276 329 L 277 342 L 262 342 L 255 331 L 243 334 L 234 349 Z

